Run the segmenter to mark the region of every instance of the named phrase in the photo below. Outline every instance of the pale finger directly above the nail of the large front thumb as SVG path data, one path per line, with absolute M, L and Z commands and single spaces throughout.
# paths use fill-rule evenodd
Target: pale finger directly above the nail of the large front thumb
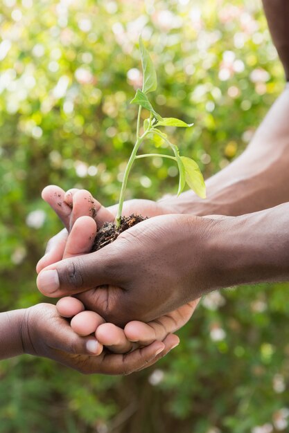
M 45 255 L 38 261 L 36 265 L 36 272 L 40 273 L 40 270 L 46 268 L 57 261 L 62 260 L 65 245 L 67 243 L 68 232 L 67 229 L 64 228 L 58 234 L 55 234 L 46 246 Z

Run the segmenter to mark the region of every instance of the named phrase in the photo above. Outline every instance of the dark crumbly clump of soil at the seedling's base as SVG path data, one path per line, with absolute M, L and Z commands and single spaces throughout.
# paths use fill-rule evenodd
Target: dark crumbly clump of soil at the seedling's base
M 100 250 L 100 248 L 103 248 L 109 243 L 112 243 L 116 240 L 119 234 L 133 227 L 133 225 L 141 223 L 141 221 L 144 221 L 145 219 L 148 219 L 148 217 L 146 216 L 144 218 L 141 215 L 135 214 L 132 214 L 130 216 L 122 216 L 121 226 L 119 228 L 116 228 L 115 223 L 104 223 L 103 227 L 100 228 L 100 230 L 98 230 L 98 232 L 96 233 L 94 245 L 91 248 L 91 252 L 98 251 Z

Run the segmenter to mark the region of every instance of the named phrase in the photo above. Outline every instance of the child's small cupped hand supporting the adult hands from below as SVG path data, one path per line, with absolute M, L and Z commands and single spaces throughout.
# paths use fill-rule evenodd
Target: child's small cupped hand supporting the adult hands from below
M 113 354 L 101 351 L 89 337 L 77 335 L 67 320 L 60 317 L 54 305 L 37 304 L 27 309 L 22 325 L 24 352 L 44 356 L 82 374 L 130 374 L 154 364 L 175 347 L 179 338 L 168 335 L 163 342 L 155 341 L 147 347 L 128 354 Z M 98 356 L 96 356 L 98 355 Z

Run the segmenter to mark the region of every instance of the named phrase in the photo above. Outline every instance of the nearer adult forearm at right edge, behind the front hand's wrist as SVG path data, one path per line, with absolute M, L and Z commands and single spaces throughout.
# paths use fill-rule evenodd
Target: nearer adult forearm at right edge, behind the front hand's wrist
M 288 226 L 289 203 L 216 221 L 207 245 L 209 288 L 289 281 Z

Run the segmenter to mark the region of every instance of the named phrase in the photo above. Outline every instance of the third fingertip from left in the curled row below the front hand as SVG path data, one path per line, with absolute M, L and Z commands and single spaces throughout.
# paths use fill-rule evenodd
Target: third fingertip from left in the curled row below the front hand
M 98 326 L 96 340 L 113 353 L 128 353 L 132 349 L 132 342 L 125 337 L 123 329 L 112 323 Z

